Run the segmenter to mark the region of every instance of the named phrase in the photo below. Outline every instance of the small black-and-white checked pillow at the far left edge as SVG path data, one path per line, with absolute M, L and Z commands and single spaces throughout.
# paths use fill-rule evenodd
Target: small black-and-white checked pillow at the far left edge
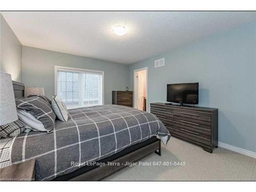
M 25 125 L 19 119 L 0 126 L 0 138 L 16 137 L 25 131 Z

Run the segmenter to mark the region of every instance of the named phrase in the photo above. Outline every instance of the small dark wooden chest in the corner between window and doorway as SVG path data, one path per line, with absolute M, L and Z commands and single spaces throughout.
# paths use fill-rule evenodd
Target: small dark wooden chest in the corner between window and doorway
M 133 107 L 132 91 L 112 91 L 112 104 Z

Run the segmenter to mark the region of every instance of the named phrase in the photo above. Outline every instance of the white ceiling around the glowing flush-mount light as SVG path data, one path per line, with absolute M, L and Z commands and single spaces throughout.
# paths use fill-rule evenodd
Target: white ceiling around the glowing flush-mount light
M 22 45 L 130 64 L 256 20 L 256 12 L 2 12 Z M 111 30 L 125 25 L 117 36 Z

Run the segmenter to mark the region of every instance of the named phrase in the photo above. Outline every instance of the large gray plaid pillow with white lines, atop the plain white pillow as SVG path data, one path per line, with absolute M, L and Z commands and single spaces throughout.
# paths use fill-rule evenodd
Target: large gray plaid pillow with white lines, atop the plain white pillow
M 40 97 L 16 99 L 16 107 L 17 109 L 25 110 L 41 121 L 48 133 L 55 127 L 56 115 L 48 101 Z

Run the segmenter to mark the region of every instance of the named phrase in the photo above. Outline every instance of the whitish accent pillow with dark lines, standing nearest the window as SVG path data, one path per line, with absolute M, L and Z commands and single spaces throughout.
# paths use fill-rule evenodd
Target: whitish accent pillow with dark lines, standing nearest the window
M 66 104 L 56 95 L 52 97 L 52 109 L 59 120 L 66 122 L 68 121 L 69 112 L 67 110 Z

